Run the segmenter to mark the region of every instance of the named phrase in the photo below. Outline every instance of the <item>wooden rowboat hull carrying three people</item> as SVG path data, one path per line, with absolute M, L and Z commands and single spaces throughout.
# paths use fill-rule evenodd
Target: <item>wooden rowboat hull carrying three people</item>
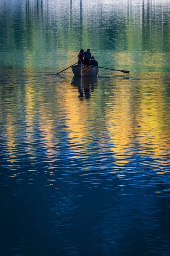
M 99 67 L 87 66 L 84 64 L 71 66 L 71 69 L 75 76 L 97 76 L 99 73 Z

